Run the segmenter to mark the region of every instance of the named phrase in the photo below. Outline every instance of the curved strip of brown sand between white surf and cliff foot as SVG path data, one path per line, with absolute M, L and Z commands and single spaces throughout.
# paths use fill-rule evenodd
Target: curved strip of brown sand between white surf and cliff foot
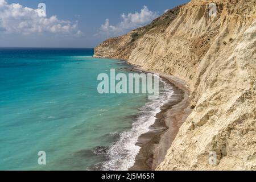
M 157 73 L 144 71 L 142 72 Z M 174 94 L 168 104 L 161 107 L 160 113 L 156 115 L 154 125 L 150 127 L 151 131 L 139 137 L 137 145 L 141 147 L 136 156 L 135 164 L 130 171 L 151 171 L 156 169 L 171 147 L 180 126 L 191 114 L 190 92 L 183 80 L 174 76 L 158 73 L 164 81 L 167 81 L 174 88 Z

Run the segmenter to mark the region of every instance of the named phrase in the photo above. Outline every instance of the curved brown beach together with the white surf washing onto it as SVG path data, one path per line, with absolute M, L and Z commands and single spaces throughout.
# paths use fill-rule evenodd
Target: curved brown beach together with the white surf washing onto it
M 158 75 L 166 84 L 164 95 L 168 97 L 164 96 L 166 100 L 163 96 L 160 98 L 163 104 L 159 105 L 159 100 L 156 100 L 141 108 L 143 113 L 134 118 L 136 121 L 132 129 L 121 133 L 118 142 L 108 148 L 106 154 L 109 160 L 100 164 L 100 169 L 152 171 L 163 162 L 180 126 L 192 112 L 190 90 L 186 82 L 177 77 L 146 71 L 138 65 L 122 61 L 131 66 L 128 72 Z

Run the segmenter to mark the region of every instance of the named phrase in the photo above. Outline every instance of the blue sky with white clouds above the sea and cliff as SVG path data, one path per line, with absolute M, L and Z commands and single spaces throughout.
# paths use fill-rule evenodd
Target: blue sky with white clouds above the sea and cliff
M 0 0 L 0 47 L 93 48 L 187 2 Z M 39 6 L 40 3 L 44 4 Z

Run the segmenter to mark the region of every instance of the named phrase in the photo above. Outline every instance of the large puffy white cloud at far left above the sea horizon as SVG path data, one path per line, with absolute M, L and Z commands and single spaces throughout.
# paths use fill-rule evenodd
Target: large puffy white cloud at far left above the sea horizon
M 19 3 L 8 4 L 0 0 L 0 31 L 8 34 L 30 35 L 41 32 L 80 36 L 77 22 L 60 20 L 57 16 L 42 17 L 41 9 L 23 7 Z

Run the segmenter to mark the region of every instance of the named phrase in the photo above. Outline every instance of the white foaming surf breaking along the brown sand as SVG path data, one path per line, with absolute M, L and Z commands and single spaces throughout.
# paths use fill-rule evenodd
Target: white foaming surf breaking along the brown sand
M 120 134 L 120 139 L 107 151 L 108 161 L 101 163 L 101 170 L 104 171 L 127 171 L 133 167 L 135 158 L 141 147 L 136 146 L 139 137 L 150 131 L 150 126 L 156 121 L 156 114 L 160 113 L 160 108 L 167 104 L 174 94 L 170 84 L 159 78 L 163 84 L 163 91 L 160 91 L 158 100 L 150 101 L 141 108 L 136 121 L 129 131 Z M 99 166 L 99 164 L 96 164 Z

